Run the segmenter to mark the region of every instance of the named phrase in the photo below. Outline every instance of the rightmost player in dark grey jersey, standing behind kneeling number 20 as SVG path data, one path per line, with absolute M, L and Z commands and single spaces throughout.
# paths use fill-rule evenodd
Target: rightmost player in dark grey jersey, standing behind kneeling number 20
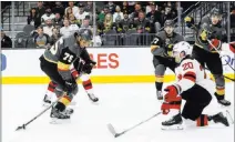
M 211 16 L 205 16 L 197 27 L 191 17 L 185 18 L 188 28 L 197 30 L 195 44 L 193 48 L 193 57 L 203 65 L 208 68 L 215 78 L 216 92 L 218 103 L 231 105 L 231 102 L 225 100 L 225 80 L 223 77 L 223 67 L 217 50 L 222 49 L 222 40 L 226 32 L 221 26 L 222 13 L 218 9 L 213 9 Z M 212 42 L 210 44 L 208 40 Z

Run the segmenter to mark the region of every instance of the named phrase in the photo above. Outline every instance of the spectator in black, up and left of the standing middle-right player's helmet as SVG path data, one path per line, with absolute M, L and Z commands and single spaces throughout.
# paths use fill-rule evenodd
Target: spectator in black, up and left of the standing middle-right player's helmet
M 156 10 L 156 6 L 155 6 L 154 2 L 150 3 L 150 7 L 151 7 L 151 11 L 146 14 L 146 18 L 149 19 L 150 24 L 151 24 L 151 31 L 150 32 L 155 33 L 156 32 L 156 29 L 155 29 L 156 22 L 159 22 L 157 29 L 161 28 L 162 13 Z

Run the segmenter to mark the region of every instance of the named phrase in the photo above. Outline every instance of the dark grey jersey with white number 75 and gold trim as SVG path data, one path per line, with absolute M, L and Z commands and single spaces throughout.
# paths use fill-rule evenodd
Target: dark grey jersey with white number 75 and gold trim
M 58 65 L 58 72 L 64 80 L 71 79 L 70 65 L 76 60 L 82 49 L 75 42 L 73 36 L 68 38 L 60 38 L 50 49 L 47 49 L 43 57 L 47 61 Z

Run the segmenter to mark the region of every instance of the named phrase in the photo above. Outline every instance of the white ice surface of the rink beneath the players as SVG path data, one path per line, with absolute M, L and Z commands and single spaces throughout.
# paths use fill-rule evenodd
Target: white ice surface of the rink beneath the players
M 156 100 L 154 84 L 94 84 L 94 92 L 100 98 L 96 104 L 89 100 L 82 85 L 79 87 L 70 122 L 51 124 L 49 110 L 25 130 L 16 131 L 17 126 L 44 109 L 42 98 L 47 84 L 2 85 L 3 142 L 234 142 L 234 125 L 187 125 L 184 130 L 163 131 L 162 115 L 114 138 L 106 128 L 108 123 L 121 132 L 160 111 L 161 103 Z M 233 116 L 234 83 L 226 83 L 226 99 L 232 102 L 232 106 L 226 109 Z M 226 110 L 217 105 L 215 98 L 210 108 L 215 112 Z M 214 113 L 210 108 L 205 111 Z

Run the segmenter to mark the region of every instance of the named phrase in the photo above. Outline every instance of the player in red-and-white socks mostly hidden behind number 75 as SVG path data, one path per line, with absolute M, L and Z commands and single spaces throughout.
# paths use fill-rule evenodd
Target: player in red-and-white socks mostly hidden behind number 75
M 81 60 L 80 58 L 83 60 Z M 89 75 L 92 71 L 92 68 L 96 64 L 96 62 L 90 59 L 86 49 L 84 49 L 80 58 L 78 58 L 73 63 L 74 68 L 71 69 L 72 75 L 75 80 L 81 78 L 82 85 L 85 92 L 88 93 L 90 100 L 93 102 L 98 102 L 99 98 L 96 98 L 93 93 L 93 85 Z M 47 93 L 43 98 L 44 105 L 51 104 L 51 98 L 54 94 L 55 88 L 57 83 L 51 81 L 48 85 Z

